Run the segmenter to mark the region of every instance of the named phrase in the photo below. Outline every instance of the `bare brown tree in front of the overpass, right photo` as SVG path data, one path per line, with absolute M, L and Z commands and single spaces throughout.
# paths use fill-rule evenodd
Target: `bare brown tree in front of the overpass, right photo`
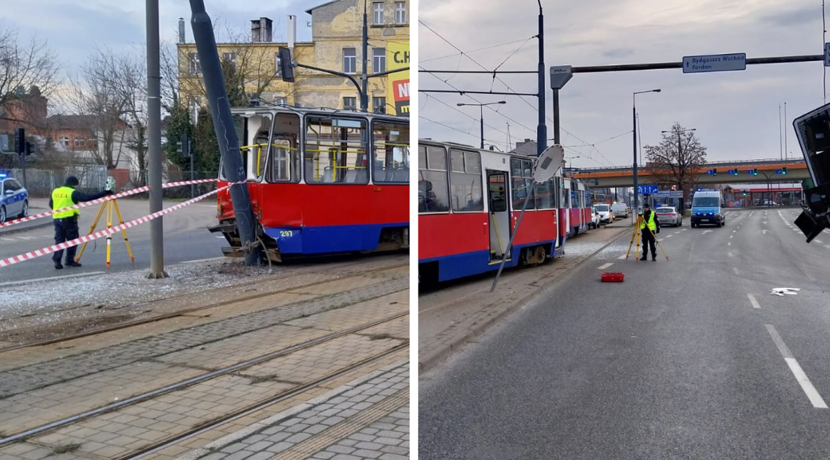
M 695 136 L 695 131 L 686 130 L 675 122 L 671 131 L 663 133 L 660 144 L 646 145 L 647 172 L 658 184 L 676 185 L 683 190 L 681 210 L 684 208 L 696 170 L 706 164 L 706 147 Z

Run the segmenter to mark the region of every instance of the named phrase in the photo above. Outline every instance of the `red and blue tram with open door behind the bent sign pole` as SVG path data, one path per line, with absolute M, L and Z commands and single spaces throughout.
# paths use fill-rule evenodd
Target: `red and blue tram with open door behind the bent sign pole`
M 418 267 L 423 280 L 447 281 L 540 264 L 591 219 L 584 184 L 555 176 L 534 184 L 525 156 L 463 144 L 418 141 Z M 508 247 L 527 193 L 513 246 Z

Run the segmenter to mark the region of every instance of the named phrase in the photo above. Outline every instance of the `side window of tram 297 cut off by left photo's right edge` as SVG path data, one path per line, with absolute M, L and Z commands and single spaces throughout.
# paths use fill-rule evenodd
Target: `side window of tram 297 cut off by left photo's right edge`
M 409 125 L 372 121 L 372 181 L 409 184 Z

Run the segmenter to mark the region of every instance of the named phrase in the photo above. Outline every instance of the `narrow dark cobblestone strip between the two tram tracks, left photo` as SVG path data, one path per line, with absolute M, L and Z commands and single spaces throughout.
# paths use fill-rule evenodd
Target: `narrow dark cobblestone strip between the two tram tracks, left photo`
M 300 301 L 273 310 L 256 311 L 206 325 L 145 337 L 83 355 L 72 355 L 60 360 L 7 370 L 0 373 L 0 399 L 106 369 L 129 365 L 139 360 L 205 345 L 232 335 L 261 330 L 297 318 L 369 301 L 408 289 L 408 285 L 409 277 L 399 276 L 332 296 Z

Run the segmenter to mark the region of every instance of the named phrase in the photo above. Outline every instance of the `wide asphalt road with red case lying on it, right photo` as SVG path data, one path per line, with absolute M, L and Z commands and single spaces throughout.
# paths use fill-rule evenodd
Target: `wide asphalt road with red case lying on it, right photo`
M 669 261 L 619 259 L 623 236 L 422 374 L 418 458 L 830 458 L 830 233 L 797 215 L 686 219 Z

